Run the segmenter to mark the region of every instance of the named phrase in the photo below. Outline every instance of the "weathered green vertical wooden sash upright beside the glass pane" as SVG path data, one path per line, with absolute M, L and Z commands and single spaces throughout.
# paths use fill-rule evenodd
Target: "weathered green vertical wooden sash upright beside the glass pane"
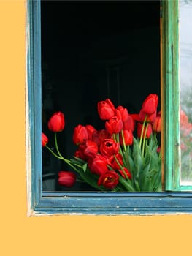
M 162 78 L 164 189 L 180 190 L 179 1 L 163 1 Z M 166 138 L 164 140 L 164 138 Z

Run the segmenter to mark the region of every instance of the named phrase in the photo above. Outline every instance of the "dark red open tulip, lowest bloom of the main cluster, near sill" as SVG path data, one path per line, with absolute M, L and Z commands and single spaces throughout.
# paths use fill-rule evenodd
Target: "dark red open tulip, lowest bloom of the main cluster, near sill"
M 118 184 L 119 176 L 113 170 L 108 170 L 102 176 L 99 177 L 98 186 L 103 185 L 107 189 L 114 189 Z

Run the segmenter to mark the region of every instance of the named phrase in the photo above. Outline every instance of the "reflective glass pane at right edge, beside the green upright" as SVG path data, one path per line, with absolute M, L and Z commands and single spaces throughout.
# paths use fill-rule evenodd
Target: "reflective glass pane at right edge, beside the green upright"
M 192 184 L 192 1 L 180 0 L 181 181 Z

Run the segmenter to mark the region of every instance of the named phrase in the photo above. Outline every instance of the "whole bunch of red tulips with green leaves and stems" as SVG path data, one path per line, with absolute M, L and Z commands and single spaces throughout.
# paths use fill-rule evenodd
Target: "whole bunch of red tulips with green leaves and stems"
M 64 113 L 53 113 L 48 128 L 55 133 L 55 151 L 47 146 L 43 132 L 42 147 L 73 169 L 58 172 L 58 183 L 72 187 L 78 173 L 81 181 L 99 191 L 161 191 L 161 146 L 157 138 L 161 112 L 157 106 L 156 94 L 145 99 L 137 114 L 128 113 L 123 106 L 115 108 L 110 99 L 98 102 L 105 129 L 91 124 L 74 127 L 72 140 L 77 151 L 72 159 L 63 157 L 58 148 L 57 133 L 64 130 Z

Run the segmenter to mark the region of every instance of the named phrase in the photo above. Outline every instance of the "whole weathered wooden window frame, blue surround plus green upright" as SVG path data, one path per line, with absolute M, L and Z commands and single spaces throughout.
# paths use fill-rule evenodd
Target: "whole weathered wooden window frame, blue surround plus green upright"
M 108 4 L 112 4 L 112 2 Z M 43 12 L 41 13 L 40 7 L 40 1 L 28 1 L 28 86 L 26 91 L 26 124 L 28 124 L 27 170 L 28 176 L 31 177 L 28 179 L 30 180 L 28 187 L 31 214 L 164 214 L 171 212 L 191 212 L 191 192 L 181 191 L 190 190 L 191 187 L 186 187 L 185 184 L 181 186 L 180 184 L 180 101 L 178 94 L 179 62 L 177 61 L 179 49 L 177 23 L 179 15 L 178 2 L 161 2 L 162 17 L 159 25 L 162 35 L 161 109 L 164 118 L 162 138 L 164 151 L 162 161 L 164 192 L 80 192 L 78 190 L 55 191 L 54 189 L 51 192 L 46 192 L 43 190 L 42 147 L 40 143 L 42 132 L 41 110 L 42 93 L 44 93 L 44 88 L 42 87 L 44 83 L 43 75 L 47 66 L 46 63 L 43 62 L 45 59 L 42 59 L 42 56 L 44 56 L 43 51 L 46 50 L 44 47 L 46 42 L 42 40 L 41 48 L 41 14 Z M 151 20 L 147 19 L 146 22 L 150 23 Z M 51 29 L 49 26 L 47 27 Z M 67 30 L 69 28 L 66 27 L 65 29 Z M 70 31 L 66 31 L 66 33 L 68 32 L 70 34 Z M 112 36 L 114 36 L 114 31 L 111 32 L 113 33 Z M 94 36 L 94 34 L 92 36 Z M 48 46 L 49 45 L 47 45 L 47 47 Z M 156 51 L 156 53 L 158 53 L 158 51 Z M 101 59 L 100 61 L 103 60 Z M 158 70 L 158 68 L 156 70 Z M 102 74 L 100 69 L 98 69 L 98 72 L 100 72 L 100 75 Z M 107 72 L 109 72 L 109 69 Z M 107 74 L 109 75 L 109 73 Z M 93 72 L 92 75 L 94 75 Z M 117 73 L 111 72 L 110 70 L 110 75 L 117 75 Z M 158 72 L 155 77 L 158 78 Z M 108 78 L 110 79 L 111 77 L 108 76 Z M 85 90 L 87 88 L 88 87 L 86 87 Z M 159 91 L 158 93 L 160 94 Z M 118 97 L 120 97 L 120 94 L 118 94 Z

